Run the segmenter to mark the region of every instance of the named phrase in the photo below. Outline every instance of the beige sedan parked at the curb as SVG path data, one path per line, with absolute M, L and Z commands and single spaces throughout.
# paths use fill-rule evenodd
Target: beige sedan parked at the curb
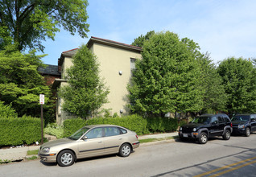
M 39 148 L 39 157 L 46 163 L 61 167 L 72 165 L 76 159 L 105 154 L 127 157 L 139 146 L 135 132 L 122 126 L 85 126 L 68 138 L 46 142 Z

